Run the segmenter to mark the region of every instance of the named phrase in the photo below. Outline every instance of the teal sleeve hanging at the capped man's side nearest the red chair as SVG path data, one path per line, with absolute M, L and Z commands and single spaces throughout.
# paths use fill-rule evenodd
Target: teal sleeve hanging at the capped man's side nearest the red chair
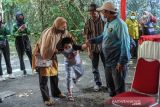
M 121 23 L 117 26 L 117 35 L 121 41 L 119 64 L 127 64 L 131 58 L 130 55 L 130 37 L 128 28 L 125 23 Z

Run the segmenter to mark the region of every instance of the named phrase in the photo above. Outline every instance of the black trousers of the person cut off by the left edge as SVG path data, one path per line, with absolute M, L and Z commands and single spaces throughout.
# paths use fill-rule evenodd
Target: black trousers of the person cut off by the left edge
M 3 53 L 3 56 L 4 56 L 5 62 L 6 62 L 7 73 L 8 73 L 8 74 L 12 74 L 12 67 L 11 67 L 11 61 L 10 61 L 10 49 L 9 49 L 9 43 L 8 43 L 7 40 L 6 40 L 6 46 L 0 48 L 0 50 L 2 51 L 2 52 L 0 53 L 0 75 L 3 75 L 3 72 L 2 72 L 2 64 L 1 64 L 1 61 L 2 61 L 2 53 Z

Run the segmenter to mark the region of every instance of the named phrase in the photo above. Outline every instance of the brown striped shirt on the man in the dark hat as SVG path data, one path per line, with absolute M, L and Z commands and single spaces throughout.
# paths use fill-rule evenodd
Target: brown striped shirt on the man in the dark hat
M 86 36 L 86 39 L 95 38 L 95 37 L 101 35 L 103 32 L 104 25 L 105 25 L 105 22 L 102 21 L 102 19 L 100 17 L 96 20 L 93 20 L 92 18 L 90 18 L 86 22 L 85 27 L 84 27 L 84 34 Z M 91 45 L 92 52 L 98 53 L 100 50 L 101 50 L 101 44 L 99 44 L 99 45 L 92 44 Z

